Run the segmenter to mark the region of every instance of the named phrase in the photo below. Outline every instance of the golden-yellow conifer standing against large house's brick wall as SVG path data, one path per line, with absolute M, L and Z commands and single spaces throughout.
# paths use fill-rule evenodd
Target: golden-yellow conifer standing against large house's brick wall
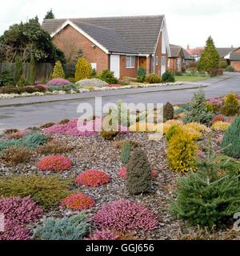
M 75 68 L 75 80 L 79 81 L 82 79 L 91 78 L 92 67 L 86 58 L 78 58 L 78 62 Z

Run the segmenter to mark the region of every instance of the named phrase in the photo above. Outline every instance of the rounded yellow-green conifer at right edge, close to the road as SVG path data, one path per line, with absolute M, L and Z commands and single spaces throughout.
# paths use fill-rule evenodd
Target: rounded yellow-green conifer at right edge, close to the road
M 240 104 L 238 103 L 237 96 L 233 93 L 226 95 L 222 106 L 222 114 L 225 114 L 226 116 L 234 116 L 239 113 L 239 110 Z

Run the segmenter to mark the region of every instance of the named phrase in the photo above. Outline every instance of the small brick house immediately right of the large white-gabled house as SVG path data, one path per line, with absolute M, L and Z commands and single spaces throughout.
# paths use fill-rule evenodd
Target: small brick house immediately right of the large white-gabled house
M 182 72 L 190 67 L 190 62 L 194 62 L 194 58 L 190 56 L 182 48 L 182 46 L 176 46 L 170 44 L 170 57 L 168 62 L 168 70 L 174 74 Z

